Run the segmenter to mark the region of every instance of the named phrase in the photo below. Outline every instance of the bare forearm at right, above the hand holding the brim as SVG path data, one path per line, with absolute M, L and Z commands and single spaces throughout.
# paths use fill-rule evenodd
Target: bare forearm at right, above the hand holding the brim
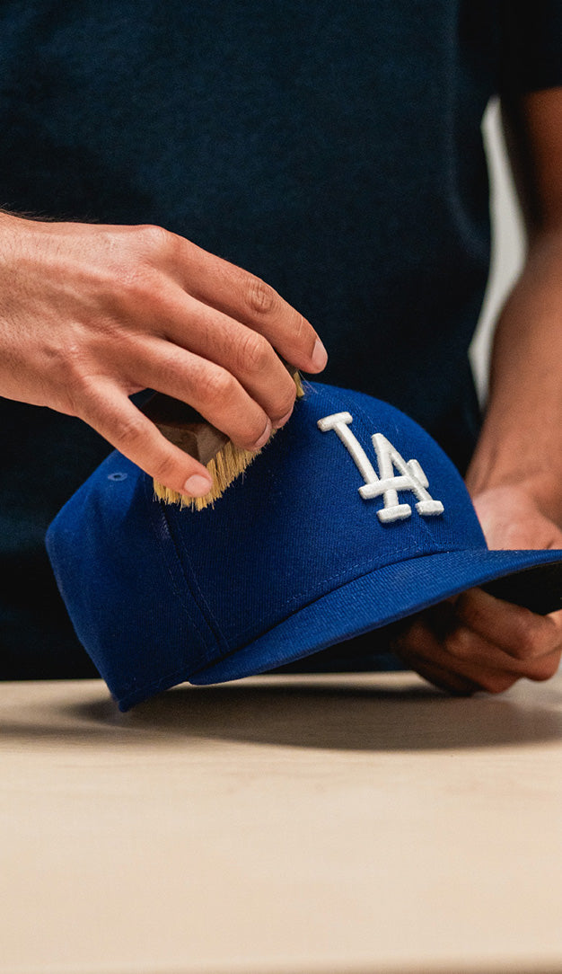
M 467 482 L 520 486 L 562 525 L 562 225 L 534 237 L 499 318 Z

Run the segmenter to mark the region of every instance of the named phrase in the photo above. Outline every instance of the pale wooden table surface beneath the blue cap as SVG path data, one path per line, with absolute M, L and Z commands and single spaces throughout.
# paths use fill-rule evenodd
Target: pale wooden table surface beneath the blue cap
M 562 972 L 562 676 L 0 688 L 2 974 Z

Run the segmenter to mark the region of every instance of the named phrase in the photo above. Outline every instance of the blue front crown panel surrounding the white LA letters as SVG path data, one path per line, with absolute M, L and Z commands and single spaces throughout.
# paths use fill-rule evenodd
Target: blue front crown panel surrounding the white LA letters
M 386 504 L 328 420 L 342 413 L 351 416 L 343 426 L 376 475 L 389 470 L 380 470 L 373 436 L 422 468 L 431 501 L 402 474 L 397 505 L 393 498 Z M 379 458 L 390 467 L 381 445 Z M 382 565 L 486 546 L 459 472 L 428 433 L 387 403 L 320 385 L 308 388 L 290 422 L 214 508 L 160 509 L 186 575 L 197 580 L 230 648 Z

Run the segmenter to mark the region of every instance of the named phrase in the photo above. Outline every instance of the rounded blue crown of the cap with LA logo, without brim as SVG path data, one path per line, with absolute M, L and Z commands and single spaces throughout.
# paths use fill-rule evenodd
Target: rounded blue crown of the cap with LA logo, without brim
M 48 546 L 78 635 L 123 696 L 164 674 L 187 679 L 382 566 L 486 543 L 427 432 L 385 402 L 308 384 L 215 506 L 155 501 L 113 453 Z

